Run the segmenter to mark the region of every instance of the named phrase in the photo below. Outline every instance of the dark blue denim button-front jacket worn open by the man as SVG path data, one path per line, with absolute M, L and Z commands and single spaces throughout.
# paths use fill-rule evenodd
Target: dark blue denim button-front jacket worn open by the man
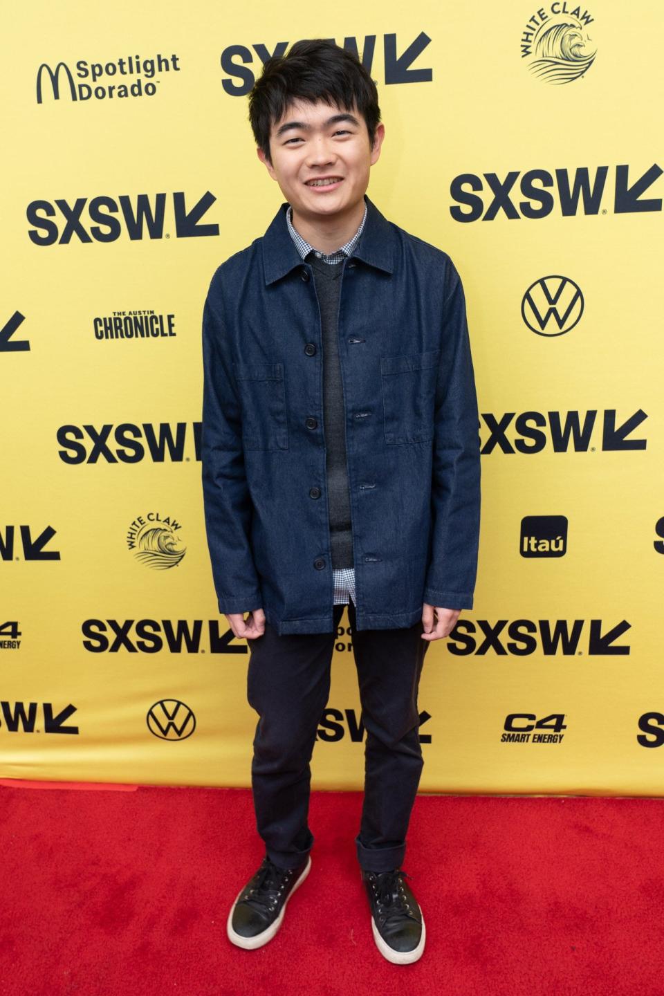
M 472 609 L 480 437 L 463 288 L 446 253 L 366 198 L 338 345 L 356 628 Z M 217 269 L 203 313 L 202 481 L 221 613 L 332 631 L 321 315 L 282 204 Z

